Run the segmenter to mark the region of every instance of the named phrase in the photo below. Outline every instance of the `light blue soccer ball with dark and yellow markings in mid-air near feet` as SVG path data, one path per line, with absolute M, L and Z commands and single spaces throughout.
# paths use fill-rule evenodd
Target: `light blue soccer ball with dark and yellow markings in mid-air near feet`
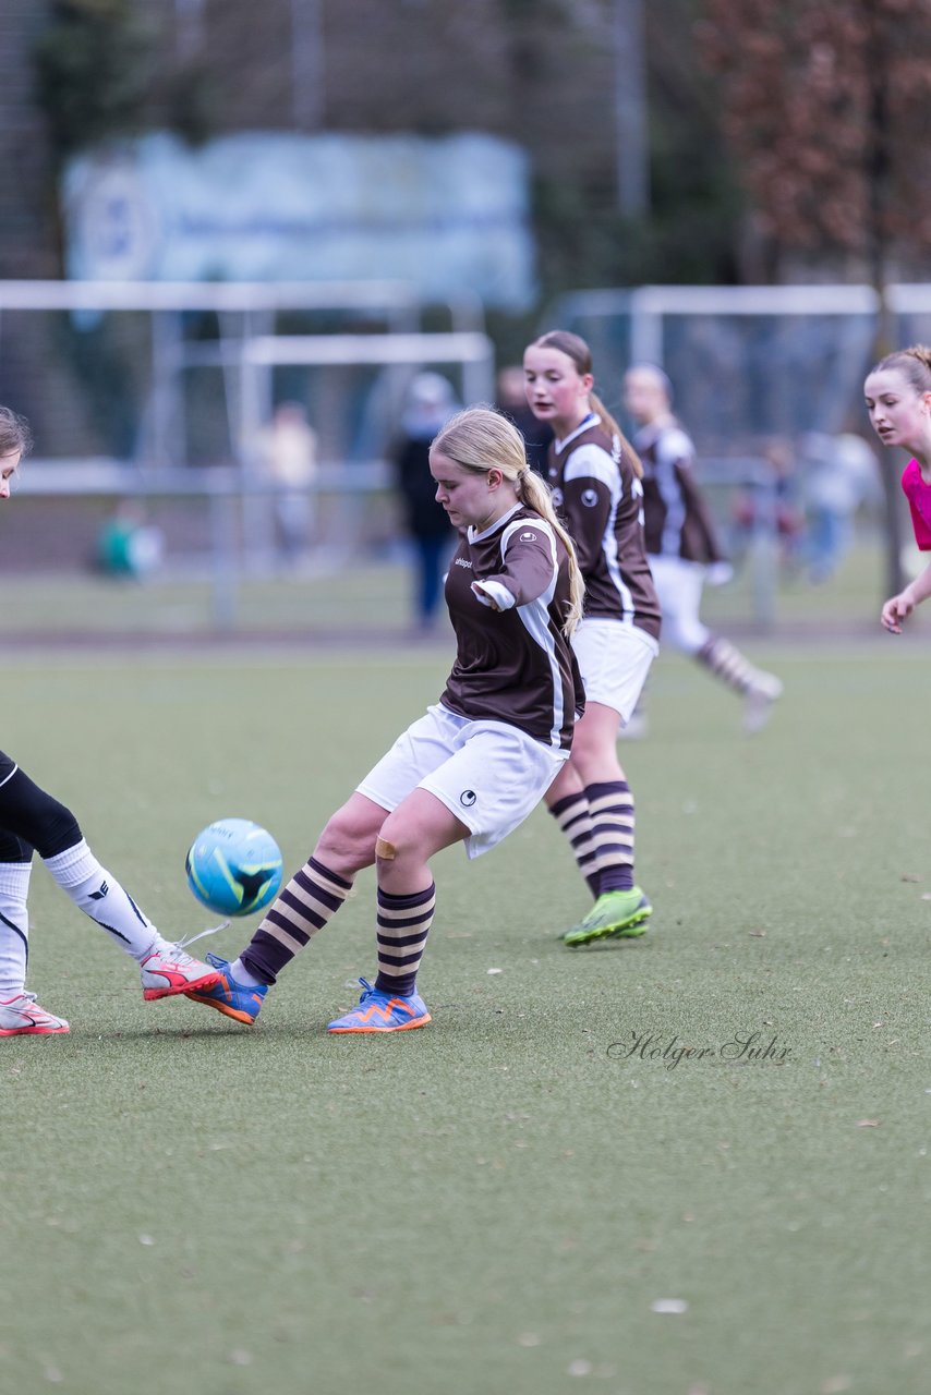
M 218 915 L 251 915 L 278 896 L 283 864 L 267 829 L 248 819 L 218 819 L 198 833 L 184 862 L 187 884 Z

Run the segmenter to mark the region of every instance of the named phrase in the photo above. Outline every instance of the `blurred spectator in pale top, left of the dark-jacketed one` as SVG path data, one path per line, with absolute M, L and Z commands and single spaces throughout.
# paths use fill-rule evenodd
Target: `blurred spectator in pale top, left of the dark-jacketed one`
M 274 495 L 275 533 L 288 561 L 307 551 L 314 527 L 317 432 L 300 402 L 281 402 L 258 434 L 257 456 L 264 477 L 281 487 Z

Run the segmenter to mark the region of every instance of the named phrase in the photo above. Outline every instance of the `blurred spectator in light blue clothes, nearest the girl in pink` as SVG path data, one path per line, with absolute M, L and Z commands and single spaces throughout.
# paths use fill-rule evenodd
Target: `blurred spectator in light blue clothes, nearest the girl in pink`
M 821 431 L 801 438 L 798 465 L 808 575 L 812 582 L 826 582 L 853 543 L 857 509 L 879 498 L 879 466 L 863 437 Z

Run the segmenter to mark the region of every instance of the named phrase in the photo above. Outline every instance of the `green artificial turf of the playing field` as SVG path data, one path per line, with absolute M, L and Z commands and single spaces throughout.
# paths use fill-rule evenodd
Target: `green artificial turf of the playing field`
M 325 1034 L 374 971 L 370 872 L 248 1031 L 144 1004 L 38 865 L 31 986 L 71 1032 L 0 1041 L 0 1385 L 923 1395 L 927 660 L 752 654 L 786 682 L 761 737 L 663 657 L 621 746 L 643 939 L 557 942 L 588 901 L 537 810 L 437 858 L 424 1031 Z M 296 868 L 444 672 L 441 650 L 7 658 L 1 745 L 191 933 L 198 829 L 255 819 Z M 255 923 L 198 947 L 233 957 Z

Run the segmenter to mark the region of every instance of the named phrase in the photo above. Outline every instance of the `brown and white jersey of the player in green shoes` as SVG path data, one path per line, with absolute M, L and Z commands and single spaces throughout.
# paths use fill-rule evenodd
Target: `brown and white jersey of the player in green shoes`
M 641 481 L 621 442 L 590 413 L 550 445 L 549 478 L 585 578 L 585 618 L 620 619 L 659 639 Z

